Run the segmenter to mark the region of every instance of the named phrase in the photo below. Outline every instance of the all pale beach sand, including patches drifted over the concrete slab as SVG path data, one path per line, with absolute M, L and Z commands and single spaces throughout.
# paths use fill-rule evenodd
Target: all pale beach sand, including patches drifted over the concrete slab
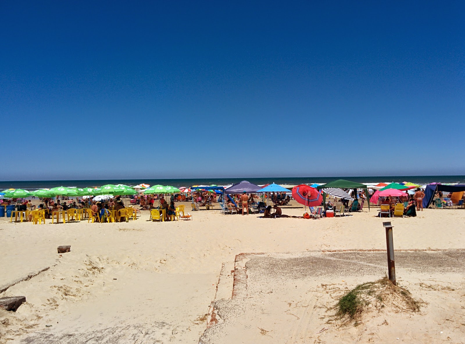
M 302 216 L 303 210 L 294 201 L 283 207 L 287 215 Z M 0 218 L 3 248 L 0 285 L 48 268 L 0 293 L 1 297 L 24 295 L 27 298 L 16 312 L 0 311 L 0 343 L 198 343 L 206 330 L 212 301 L 231 299 L 235 260 L 240 253 L 322 254 L 319 252 L 328 250 L 385 250 L 386 245 L 382 227 L 385 219 L 375 217 L 377 209 L 368 212 L 365 208 L 364 212 L 350 217 L 318 220 L 265 219 L 259 218 L 259 214 L 223 215 L 219 210 L 191 213 L 192 221 L 164 223 L 148 221 L 149 212 L 142 212 L 136 221 L 110 224 L 92 224 L 85 220 L 52 225 L 47 220 L 46 225 L 33 225 Z M 463 209 L 426 209 L 418 212 L 416 218 L 392 218 L 395 248 L 463 249 L 464 220 Z M 57 254 L 59 245 L 71 245 L 71 251 Z M 430 329 L 436 326 L 447 333 L 442 340 L 461 343 L 465 337 L 463 270 L 455 271 L 451 267 L 447 271 L 407 271 L 402 264 L 399 261 L 400 283 L 413 297 L 427 300 L 428 305 L 415 314 L 415 321 L 409 322 L 408 331 L 414 331 L 414 337 L 402 336 L 407 329 L 400 331 L 398 326 L 391 325 L 384 327 L 395 337 L 381 337 L 377 341 L 392 343 L 400 336 L 401 341 L 409 343 L 436 343 L 436 337 L 425 332 L 425 324 L 429 324 Z M 220 273 L 224 275 L 221 286 L 218 285 Z M 360 271 L 347 278 L 332 275 L 312 278 L 312 284 L 295 283 L 293 290 L 281 288 L 275 302 L 286 298 L 296 300 L 297 295 L 306 294 L 309 288 L 317 291 L 323 281 L 353 288 L 372 276 L 383 277 L 382 269 L 372 274 Z M 445 295 L 438 289 L 428 294 L 419 283 L 449 286 L 453 291 Z M 441 299 L 446 301 L 442 303 Z M 266 302 L 262 298 L 258 300 Z M 331 298 L 319 300 L 316 306 L 320 310 L 335 302 Z M 253 301 L 247 298 L 244 302 Z M 247 312 L 256 312 L 253 307 L 242 307 L 246 316 L 252 314 Z M 319 312 L 318 316 L 322 314 Z M 412 318 L 412 314 L 395 312 L 382 316 L 392 324 Z M 365 335 L 368 333 L 365 325 L 345 330 L 329 326 L 330 329 L 318 336 L 314 335 L 315 328 L 309 328 L 305 336 L 286 337 L 289 324 L 280 317 L 288 316 L 276 316 L 273 324 L 268 323 L 274 332 L 264 333 L 270 337 L 255 331 L 262 327 L 259 323 L 266 315 L 254 313 L 254 323 L 249 327 L 257 332 L 258 339 L 252 338 L 248 331 L 238 331 L 227 341 L 219 336 L 217 340 L 204 338 L 204 342 L 348 343 L 355 338 L 368 342 L 373 337 Z M 317 330 L 326 326 L 325 319 L 315 317 L 312 322 L 319 327 Z M 396 336 L 395 331 L 402 333 Z

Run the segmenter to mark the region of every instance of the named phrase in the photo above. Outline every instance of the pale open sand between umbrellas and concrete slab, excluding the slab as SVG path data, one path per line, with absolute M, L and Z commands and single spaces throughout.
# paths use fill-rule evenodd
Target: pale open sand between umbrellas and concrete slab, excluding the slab
M 283 213 L 301 216 L 303 208 Z M 376 213 L 304 220 L 200 211 L 193 221 L 151 223 L 143 212 L 129 223 L 59 225 L 1 218 L 0 285 L 50 269 L 0 294 L 27 297 L 16 313 L 0 311 L 0 343 L 63 333 L 75 343 L 99 335 L 95 343 L 197 343 L 223 262 L 233 266 L 240 252 L 385 249 L 385 219 Z M 464 220 L 461 209 L 393 218 L 395 248 L 464 248 Z M 72 251 L 60 257 L 59 245 Z

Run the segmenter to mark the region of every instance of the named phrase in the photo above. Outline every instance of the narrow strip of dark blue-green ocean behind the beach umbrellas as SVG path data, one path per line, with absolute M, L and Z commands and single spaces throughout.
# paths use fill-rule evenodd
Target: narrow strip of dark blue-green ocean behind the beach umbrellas
M 377 184 L 379 182 L 402 183 L 404 181 L 419 185 L 433 182 L 442 184 L 465 184 L 465 176 L 369 176 L 369 177 L 270 177 L 270 178 L 206 178 L 206 179 L 109 179 L 109 180 L 24 180 L 24 181 L 1 181 L 0 191 L 13 188 L 34 191 L 38 189 L 50 189 L 55 186 L 101 186 L 105 184 L 125 184 L 139 185 L 146 183 L 149 185 L 171 185 L 171 186 L 192 186 L 192 185 L 230 185 L 248 180 L 256 185 L 276 183 L 279 185 L 298 184 L 324 184 L 336 179 L 346 179 L 357 183 Z

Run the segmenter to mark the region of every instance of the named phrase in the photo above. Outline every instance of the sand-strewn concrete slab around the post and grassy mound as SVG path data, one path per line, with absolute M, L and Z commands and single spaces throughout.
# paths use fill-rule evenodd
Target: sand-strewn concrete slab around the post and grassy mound
M 417 329 L 418 324 L 439 333 L 444 312 L 451 317 L 462 314 L 465 251 L 396 251 L 395 258 L 398 282 L 415 298 L 426 300 L 428 307 L 421 314 L 381 314 L 382 320 L 372 318 L 358 328 L 340 329 L 326 324 L 331 314 L 327 308 L 337 302 L 341 290 L 383 277 L 387 272 L 385 252 L 240 254 L 235 269 L 240 278 L 234 284 L 240 292 L 234 297 L 233 291 L 232 299 L 213 302 L 216 323 L 199 343 L 392 343 L 392 332 L 397 329 L 402 333 L 396 337 L 426 342 L 429 337 Z M 428 284 L 440 287 L 432 291 Z M 443 297 L 450 302 L 438 304 L 437 299 Z M 463 323 L 465 315 L 463 318 L 457 321 Z M 380 327 L 386 319 L 391 325 Z M 449 338 L 455 343 L 464 335 L 462 329 Z

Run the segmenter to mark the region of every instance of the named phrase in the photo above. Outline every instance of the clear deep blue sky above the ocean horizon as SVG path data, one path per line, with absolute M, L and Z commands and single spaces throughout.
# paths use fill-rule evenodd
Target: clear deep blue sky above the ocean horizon
M 1 180 L 465 174 L 464 1 L 2 1 Z

